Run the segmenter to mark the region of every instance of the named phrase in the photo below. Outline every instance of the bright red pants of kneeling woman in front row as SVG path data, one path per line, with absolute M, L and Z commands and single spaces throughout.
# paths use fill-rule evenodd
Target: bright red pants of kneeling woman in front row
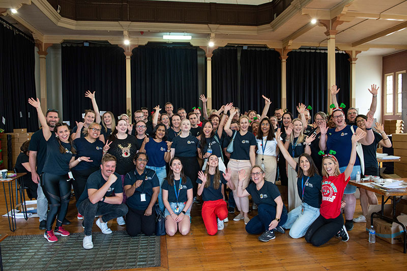
M 216 217 L 220 220 L 227 218 L 226 201 L 218 199 L 203 202 L 202 219 L 209 235 L 214 235 L 218 232 L 218 222 Z

